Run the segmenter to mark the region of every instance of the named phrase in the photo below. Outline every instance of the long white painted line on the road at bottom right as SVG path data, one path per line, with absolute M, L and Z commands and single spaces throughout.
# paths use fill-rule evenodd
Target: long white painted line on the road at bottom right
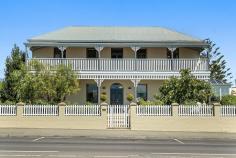
M 214 154 L 214 153 L 152 153 L 152 155 L 236 156 L 236 154 Z

